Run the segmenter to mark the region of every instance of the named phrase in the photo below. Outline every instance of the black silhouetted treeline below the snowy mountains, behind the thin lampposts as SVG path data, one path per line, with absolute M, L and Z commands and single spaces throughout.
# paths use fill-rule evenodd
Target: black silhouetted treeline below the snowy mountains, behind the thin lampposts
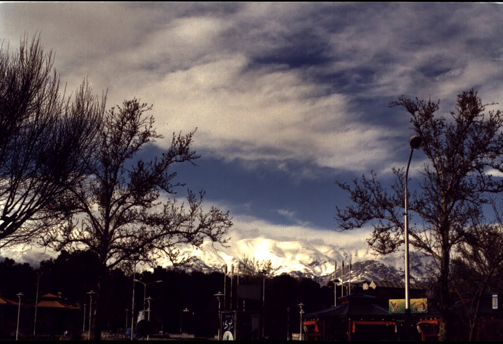
M 43 261 L 39 269 L 36 269 L 27 263 L 18 264 L 6 258 L 0 262 L 0 294 L 17 300 L 16 294 L 22 292 L 23 303 L 35 304 L 38 283 L 39 295 L 59 295 L 63 302 L 78 306 L 83 312 L 83 305 L 89 305 L 87 293 L 95 290 L 97 283 L 95 260 L 96 257 L 89 251 L 62 251 L 56 259 Z M 137 311 L 143 310 L 143 297 L 151 297 L 150 322 L 153 333 L 180 333 L 183 325 L 183 332 L 199 336 L 216 334 L 218 300 L 214 294 L 224 290 L 223 273 L 205 274 L 157 267 L 153 271 L 137 272 L 135 276 L 137 280 L 147 284 L 144 293 L 142 283 L 135 283 L 135 319 Z M 126 321 L 128 327 L 131 324 L 133 276 L 115 269 L 109 273 L 108 279 L 102 326 L 111 332 L 122 332 Z M 162 282 L 155 283 L 156 281 Z M 262 287 L 263 283 L 262 276 L 240 277 L 241 286 L 255 284 Z M 234 274 L 233 309 L 237 306 L 242 310 L 243 300 L 237 301 L 235 298 L 236 284 L 237 275 Z M 309 278 L 286 274 L 266 277 L 265 288 L 264 334 L 271 339 L 286 338 L 288 320 L 290 333 L 298 332 L 300 317 L 297 304 L 300 302 L 304 303 L 305 312 L 329 307 L 333 303 L 333 287 L 322 287 Z M 230 274 L 227 276 L 226 290 L 226 309 L 229 309 Z M 245 310 L 260 312 L 262 290 L 260 297 L 260 300 L 244 300 Z M 221 306 L 223 310 L 223 300 Z M 148 309 L 148 303 L 145 303 L 145 308 Z M 80 322 L 75 324 L 73 330 L 81 328 Z

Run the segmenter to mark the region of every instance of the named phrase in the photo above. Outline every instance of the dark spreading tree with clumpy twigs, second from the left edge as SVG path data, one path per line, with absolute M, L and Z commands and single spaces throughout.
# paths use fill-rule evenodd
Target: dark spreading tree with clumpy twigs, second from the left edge
M 79 246 L 98 256 L 95 339 L 101 336 L 100 293 L 111 268 L 135 256 L 154 266 L 161 257 L 185 263 L 190 257 L 180 254 L 180 245 L 200 247 L 205 238 L 225 243 L 232 225 L 228 212 L 203 209 L 204 192 L 189 191 L 182 204 L 170 198 L 183 186 L 175 181 L 173 165 L 194 163 L 199 157 L 191 149 L 194 133 L 174 134 L 171 146 L 150 161 L 138 157 L 141 149 L 161 137 L 153 128 L 153 117 L 146 114 L 149 110 L 151 106 L 133 99 L 107 112 L 88 160 L 92 178 L 70 188 L 75 216 L 44 241 L 56 250 Z

